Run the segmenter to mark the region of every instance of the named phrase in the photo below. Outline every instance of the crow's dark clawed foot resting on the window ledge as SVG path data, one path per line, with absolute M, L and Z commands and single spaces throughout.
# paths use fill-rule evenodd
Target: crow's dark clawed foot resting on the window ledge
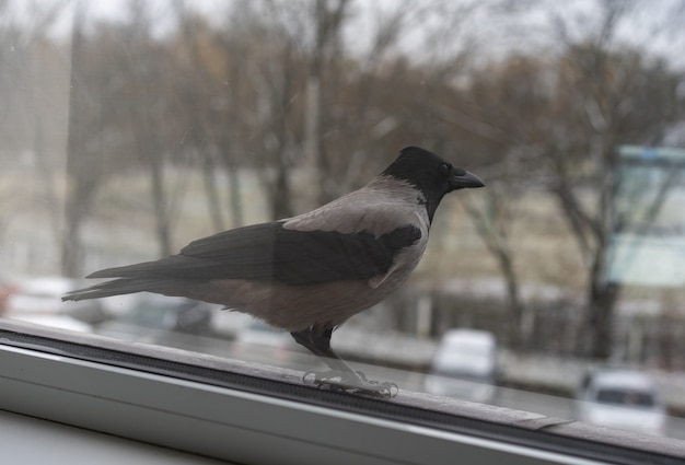
M 302 376 L 305 384 L 313 384 L 320 390 L 362 394 L 372 397 L 395 397 L 399 388 L 395 383 L 369 381 L 361 371 L 307 371 Z

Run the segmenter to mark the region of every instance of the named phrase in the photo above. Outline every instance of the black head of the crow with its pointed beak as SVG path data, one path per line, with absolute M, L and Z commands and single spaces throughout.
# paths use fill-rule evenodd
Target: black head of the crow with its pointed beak
M 454 167 L 442 156 L 418 147 L 400 150 L 399 156 L 381 174 L 405 181 L 421 191 L 431 221 L 445 194 L 485 186 L 475 174 Z

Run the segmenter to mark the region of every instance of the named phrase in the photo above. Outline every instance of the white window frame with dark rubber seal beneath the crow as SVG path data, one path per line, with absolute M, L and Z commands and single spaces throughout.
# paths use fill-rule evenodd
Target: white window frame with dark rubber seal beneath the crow
M 0 321 L 0 408 L 240 463 L 675 464 L 682 441 Z

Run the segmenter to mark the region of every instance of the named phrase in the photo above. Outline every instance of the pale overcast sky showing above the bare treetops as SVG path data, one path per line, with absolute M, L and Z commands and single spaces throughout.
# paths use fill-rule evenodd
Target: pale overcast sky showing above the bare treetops
M 81 0 L 82 1 L 82 0 Z M 90 2 L 88 7 L 89 18 L 117 20 L 125 19 L 129 0 L 106 0 Z M 227 11 L 236 0 L 186 0 L 194 9 L 204 12 L 210 20 L 221 21 L 227 16 Z M 237 0 L 240 1 L 240 0 Z M 292 0 L 287 0 L 292 1 Z M 419 4 L 431 0 L 423 0 Z M 432 0 L 436 4 L 439 0 Z M 427 53 L 425 37 L 427 31 L 440 27 L 445 28 L 445 40 L 440 47 L 431 45 L 431 53 L 439 54 L 442 48 L 449 50 L 451 43 L 464 40 L 465 37 L 474 39 L 487 55 L 502 55 L 516 47 L 552 47 L 558 31 L 554 27 L 552 19 L 558 15 L 569 25 L 568 33 L 573 38 L 580 38 L 588 31 L 595 27 L 599 21 L 599 0 L 510 0 L 502 1 L 504 8 L 518 10 L 516 14 L 497 15 L 498 20 L 488 14 L 487 10 L 480 9 L 469 20 L 450 30 L 445 25 L 444 18 L 449 12 L 444 9 L 458 10 L 472 1 L 463 0 L 444 2 L 443 11 L 436 11 L 421 22 L 419 27 L 409 27 L 410 33 L 404 36 L 402 48 L 408 53 L 420 49 Z M 35 10 L 48 10 L 55 5 L 62 5 L 61 13 L 53 27 L 54 34 L 68 36 L 74 7 L 79 0 L 10 0 L 10 7 L 5 8 L 5 15 L 21 22 L 31 23 L 35 18 Z M 346 28 L 346 40 L 352 49 L 363 50 L 369 45 L 370 32 L 380 23 L 384 15 L 392 14 L 399 8 L 410 4 L 406 0 L 357 0 L 352 2 L 352 19 Z M 156 33 L 169 31 L 173 24 L 172 0 L 151 0 L 148 4 L 153 9 L 156 23 Z M 511 18 L 508 20 L 507 18 Z M 3 20 L 0 20 L 2 22 Z M 7 21 L 7 19 L 4 20 Z M 442 24 L 441 24 L 442 23 Z M 618 28 L 620 40 L 634 46 L 647 45 L 649 49 L 667 57 L 674 67 L 685 69 L 685 1 L 683 0 L 653 0 L 638 1 L 629 19 L 624 21 Z M 443 50 L 443 51 L 444 51 Z

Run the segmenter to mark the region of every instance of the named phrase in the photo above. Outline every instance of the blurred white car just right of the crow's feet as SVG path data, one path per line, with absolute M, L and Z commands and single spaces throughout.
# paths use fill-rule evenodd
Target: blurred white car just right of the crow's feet
M 452 329 L 436 351 L 426 391 L 429 394 L 487 403 L 497 391 L 497 342 L 489 332 Z

